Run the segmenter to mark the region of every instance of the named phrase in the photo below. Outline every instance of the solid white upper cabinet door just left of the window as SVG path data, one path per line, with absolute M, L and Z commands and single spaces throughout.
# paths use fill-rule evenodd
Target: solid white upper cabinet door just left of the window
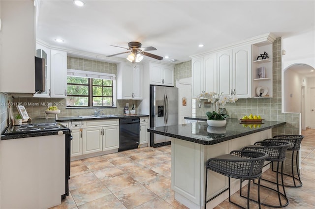
M 67 53 L 51 50 L 51 97 L 65 98 L 67 95 Z

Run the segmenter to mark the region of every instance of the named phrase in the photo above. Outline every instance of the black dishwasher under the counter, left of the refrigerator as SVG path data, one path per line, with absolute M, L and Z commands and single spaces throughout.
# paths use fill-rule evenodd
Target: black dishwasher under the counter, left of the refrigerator
M 138 148 L 140 136 L 140 118 L 122 118 L 119 120 L 118 151 Z

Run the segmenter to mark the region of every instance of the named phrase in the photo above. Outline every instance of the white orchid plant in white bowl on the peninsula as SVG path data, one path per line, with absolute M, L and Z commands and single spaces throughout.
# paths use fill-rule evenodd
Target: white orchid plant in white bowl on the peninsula
M 216 92 L 205 92 L 199 95 L 200 100 L 206 99 L 212 104 L 212 112 L 206 112 L 208 116 L 207 123 L 213 127 L 223 127 L 226 125 L 226 114 L 219 114 L 220 105 L 224 106 L 226 103 L 235 103 L 238 98 L 236 96 L 228 97 L 227 95 L 217 94 Z

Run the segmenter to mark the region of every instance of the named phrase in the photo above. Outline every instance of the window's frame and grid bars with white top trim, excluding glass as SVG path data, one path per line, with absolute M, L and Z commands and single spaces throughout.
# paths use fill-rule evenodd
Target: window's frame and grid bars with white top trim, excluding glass
M 68 85 L 79 85 L 79 86 L 88 86 L 88 95 L 71 95 L 68 94 L 68 97 L 88 97 L 88 106 L 66 106 L 67 108 L 108 108 L 108 107 L 116 107 L 116 75 L 115 74 L 107 74 L 107 73 L 98 73 L 98 72 L 91 72 L 91 71 L 81 71 L 81 70 L 73 70 L 73 69 L 67 69 L 67 76 L 70 77 L 79 77 L 79 78 L 88 78 L 88 84 L 81 84 L 81 83 L 68 83 Z M 105 86 L 101 85 L 102 88 L 104 87 L 111 87 L 112 88 L 112 96 L 93 96 L 93 86 L 100 86 L 100 85 L 94 85 L 93 79 L 106 79 L 106 80 L 112 80 L 112 86 Z M 112 105 L 111 106 L 93 106 L 93 98 L 94 97 L 101 97 L 102 98 L 102 104 L 103 104 L 103 98 L 112 98 Z

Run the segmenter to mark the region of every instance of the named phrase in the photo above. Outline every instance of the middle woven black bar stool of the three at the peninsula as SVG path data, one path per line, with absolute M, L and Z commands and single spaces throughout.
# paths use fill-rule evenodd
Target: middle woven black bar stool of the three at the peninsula
M 282 208 L 282 207 L 285 207 L 289 204 L 289 200 L 287 199 L 286 194 L 285 194 L 284 185 L 279 183 L 279 175 L 278 175 L 279 174 L 279 162 L 281 162 L 281 179 L 283 182 L 284 181 L 283 167 L 284 167 L 285 151 L 287 150 L 288 147 L 289 147 L 289 143 L 284 142 L 284 141 L 258 141 L 256 143 L 254 143 L 254 145 L 247 146 L 247 147 L 244 147 L 242 149 L 243 151 L 250 150 L 250 151 L 256 151 L 256 152 L 264 152 L 268 155 L 268 157 L 266 158 L 266 161 L 269 161 L 269 163 L 277 162 L 277 182 L 276 182 L 277 190 L 270 188 L 268 186 L 264 186 L 261 184 L 260 185 L 265 187 L 265 188 L 276 191 L 278 193 L 280 205 L 275 206 L 275 205 L 260 203 L 261 205 L 264 205 L 267 207 L 272 207 L 272 208 Z M 267 163 L 264 166 L 267 166 L 269 163 Z M 262 179 L 262 180 L 264 180 L 264 179 Z M 280 192 L 279 185 L 282 185 L 284 193 Z M 241 182 L 241 187 L 242 187 L 242 182 Z M 259 185 L 258 185 L 258 188 L 259 188 Z M 240 195 L 242 196 L 242 190 L 241 190 Z M 258 195 L 259 195 L 259 190 L 258 190 Z M 286 201 L 286 203 L 284 205 L 282 204 L 281 196 L 283 196 L 284 200 Z M 244 197 L 244 196 L 242 196 L 242 197 Z M 255 200 L 252 200 L 252 201 L 257 202 Z

